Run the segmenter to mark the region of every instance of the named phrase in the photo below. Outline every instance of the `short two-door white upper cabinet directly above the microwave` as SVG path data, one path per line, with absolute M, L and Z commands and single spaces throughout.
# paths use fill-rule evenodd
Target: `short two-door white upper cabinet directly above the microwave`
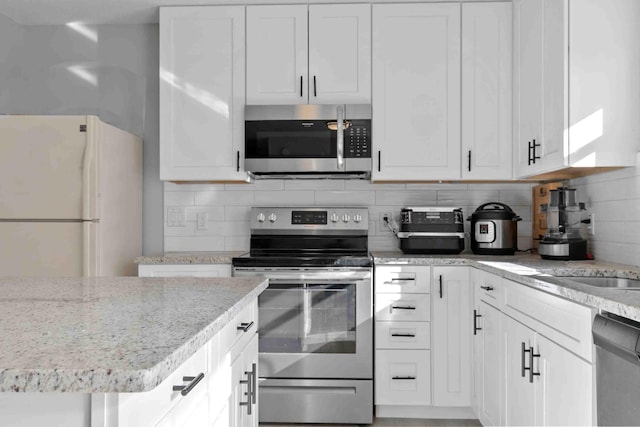
M 247 7 L 247 104 L 370 102 L 370 5 Z

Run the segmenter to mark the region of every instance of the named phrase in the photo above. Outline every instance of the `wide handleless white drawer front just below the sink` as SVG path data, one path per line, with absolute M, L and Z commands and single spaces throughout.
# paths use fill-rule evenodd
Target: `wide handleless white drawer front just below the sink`
M 585 360 L 593 360 L 594 309 L 504 280 L 503 312 Z

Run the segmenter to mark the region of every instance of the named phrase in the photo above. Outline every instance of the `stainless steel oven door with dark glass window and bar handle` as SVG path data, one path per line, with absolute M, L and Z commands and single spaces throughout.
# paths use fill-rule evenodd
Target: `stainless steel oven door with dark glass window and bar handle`
M 234 275 L 269 278 L 258 297 L 260 377 L 372 378 L 370 269 Z

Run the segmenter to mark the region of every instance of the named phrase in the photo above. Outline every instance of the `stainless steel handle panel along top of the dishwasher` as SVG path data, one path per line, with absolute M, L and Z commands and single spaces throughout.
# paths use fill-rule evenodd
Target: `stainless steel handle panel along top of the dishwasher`
M 640 323 L 610 313 L 596 314 L 593 343 L 640 366 Z

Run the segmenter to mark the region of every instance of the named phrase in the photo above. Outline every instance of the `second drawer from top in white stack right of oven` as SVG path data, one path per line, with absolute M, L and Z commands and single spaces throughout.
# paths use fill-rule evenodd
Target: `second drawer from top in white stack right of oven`
M 425 294 L 376 294 L 376 320 L 428 322 L 430 301 Z

